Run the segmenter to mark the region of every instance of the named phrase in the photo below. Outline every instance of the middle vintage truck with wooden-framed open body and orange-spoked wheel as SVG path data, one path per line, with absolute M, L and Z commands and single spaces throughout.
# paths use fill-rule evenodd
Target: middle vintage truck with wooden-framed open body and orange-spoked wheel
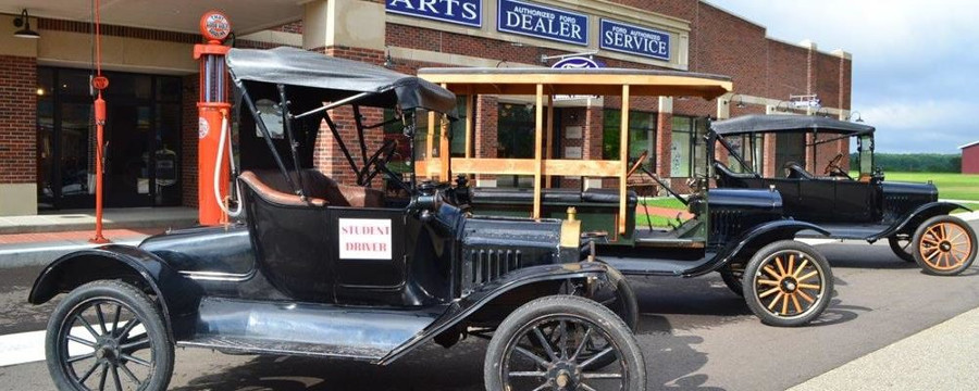
M 778 192 L 709 189 L 703 174 L 692 178 L 694 193 L 683 198 L 642 166 L 646 153 L 635 163 L 629 161 L 632 98 L 715 99 L 731 91 L 730 78 L 619 68 L 424 68 L 419 71 L 419 76 L 469 97 L 534 97 L 533 159 L 486 159 L 468 154 L 449 157 L 447 140 L 443 139 L 437 150 L 434 140 L 427 142 L 427 159 L 417 165 L 420 175 L 445 176 L 445 167 L 451 161 L 456 173 L 533 176 L 533 188 L 472 189 L 474 214 L 526 216 L 530 213 L 532 217 L 555 217 L 561 216 L 568 206 L 574 206 L 582 220 L 583 235 L 595 243 L 598 257 L 625 275 L 695 277 L 724 272 L 729 264 L 744 260 L 751 272 L 744 274 L 744 283 L 732 280 L 730 274 L 722 275 L 727 276 L 729 287 L 746 298 L 752 312 L 769 325 L 805 325 L 829 305 L 833 293 L 829 264 L 815 249 L 793 240 L 803 230 L 825 231 L 810 223 L 784 218 L 783 201 Z M 555 133 L 556 96 L 602 96 L 621 102 L 621 123 L 615 135 L 620 142 L 618 160 L 552 159 L 553 142 L 559 137 Z M 605 131 L 616 130 L 606 127 Z M 434 133 L 430 128 L 430 135 Z M 471 150 L 471 139 L 467 131 L 466 151 Z M 705 167 L 712 153 L 708 146 L 707 155 L 702 156 Z M 658 182 L 686 204 L 694 217 L 678 222 L 671 229 L 639 226 L 635 219 L 639 200 L 636 192 L 629 188 L 630 178 L 636 175 Z M 617 178 L 618 188 L 550 188 L 554 176 L 580 178 L 582 184 L 587 178 Z

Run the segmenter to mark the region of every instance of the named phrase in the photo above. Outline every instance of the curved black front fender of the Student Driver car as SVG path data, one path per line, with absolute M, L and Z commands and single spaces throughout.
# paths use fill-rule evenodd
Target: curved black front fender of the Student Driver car
M 595 278 L 593 282 L 604 287 L 617 287 L 619 279 L 624 277 L 611 266 L 602 262 L 537 265 L 510 272 L 506 276 L 480 287 L 480 289 L 468 297 L 450 304 L 445 314 L 426 327 L 424 331 L 393 350 L 376 364 L 386 365 L 394 362 L 435 336 L 466 320 L 478 310 L 486 306 L 486 304 L 517 288 L 529 287 L 535 283 L 586 278 Z

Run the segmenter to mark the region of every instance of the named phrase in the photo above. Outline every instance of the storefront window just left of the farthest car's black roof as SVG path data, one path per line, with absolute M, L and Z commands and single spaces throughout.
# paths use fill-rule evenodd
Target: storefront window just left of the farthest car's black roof
M 686 116 L 673 116 L 670 142 L 670 176 L 687 178 L 706 176 L 707 122 Z

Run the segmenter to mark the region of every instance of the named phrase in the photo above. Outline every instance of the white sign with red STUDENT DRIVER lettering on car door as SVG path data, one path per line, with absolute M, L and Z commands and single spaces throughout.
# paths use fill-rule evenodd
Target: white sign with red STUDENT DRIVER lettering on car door
M 391 260 L 391 220 L 340 218 L 340 260 Z

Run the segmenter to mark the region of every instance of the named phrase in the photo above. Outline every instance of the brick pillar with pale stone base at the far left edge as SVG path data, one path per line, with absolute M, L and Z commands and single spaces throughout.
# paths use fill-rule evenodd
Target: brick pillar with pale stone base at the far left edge
M 0 216 L 37 214 L 37 59 L 0 55 Z

